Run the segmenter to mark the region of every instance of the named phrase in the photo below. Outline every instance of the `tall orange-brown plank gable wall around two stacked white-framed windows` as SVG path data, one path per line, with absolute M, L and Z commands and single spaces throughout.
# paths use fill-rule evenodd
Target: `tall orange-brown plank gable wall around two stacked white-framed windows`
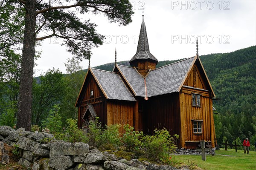
M 180 90 L 181 147 L 198 147 L 199 141 L 209 141 L 215 147 L 215 129 L 212 112 L 212 92 L 202 68 L 195 64 Z M 192 106 L 192 93 L 201 95 L 201 106 Z M 202 133 L 193 133 L 193 121 L 202 121 Z

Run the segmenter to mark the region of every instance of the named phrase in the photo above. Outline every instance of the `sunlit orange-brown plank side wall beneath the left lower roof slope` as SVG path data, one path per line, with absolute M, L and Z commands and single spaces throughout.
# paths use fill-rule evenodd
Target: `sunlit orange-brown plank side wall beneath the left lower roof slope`
M 117 101 L 108 100 L 107 101 L 107 125 L 111 124 L 129 124 L 134 126 L 134 105 L 135 102 L 129 101 Z M 120 133 L 124 133 L 124 129 L 121 126 Z

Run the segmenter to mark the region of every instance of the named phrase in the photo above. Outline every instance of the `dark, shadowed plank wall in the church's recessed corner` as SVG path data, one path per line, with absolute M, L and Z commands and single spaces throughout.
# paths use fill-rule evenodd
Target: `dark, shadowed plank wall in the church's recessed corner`
M 180 135 L 179 93 L 151 97 L 143 112 L 143 132 L 153 134 L 154 129 L 166 128 L 171 135 Z M 180 147 L 180 139 L 177 143 Z

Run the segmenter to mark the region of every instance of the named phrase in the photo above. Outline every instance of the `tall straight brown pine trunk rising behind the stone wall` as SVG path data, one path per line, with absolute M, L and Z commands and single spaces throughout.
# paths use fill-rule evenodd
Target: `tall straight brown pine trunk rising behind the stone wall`
M 35 56 L 36 0 L 26 0 L 25 30 L 20 72 L 20 97 L 17 128 L 31 130 L 32 82 Z

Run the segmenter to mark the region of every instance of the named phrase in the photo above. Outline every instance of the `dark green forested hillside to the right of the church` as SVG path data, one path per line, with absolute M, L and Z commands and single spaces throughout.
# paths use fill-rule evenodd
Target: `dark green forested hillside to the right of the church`
M 226 136 L 231 143 L 256 134 L 256 46 L 200 59 L 221 100 L 213 102 L 217 143 Z M 216 119 L 217 118 L 217 119 Z

